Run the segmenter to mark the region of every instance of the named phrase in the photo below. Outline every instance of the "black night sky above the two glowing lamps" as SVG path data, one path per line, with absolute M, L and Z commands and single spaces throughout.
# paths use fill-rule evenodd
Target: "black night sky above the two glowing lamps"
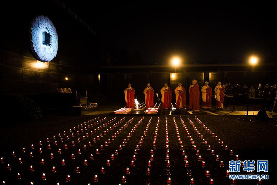
M 200 64 L 277 58 L 273 5 L 85 2 L 64 3 L 96 30 L 101 60 L 111 53 L 113 65 L 166 64 L 175 55 Z

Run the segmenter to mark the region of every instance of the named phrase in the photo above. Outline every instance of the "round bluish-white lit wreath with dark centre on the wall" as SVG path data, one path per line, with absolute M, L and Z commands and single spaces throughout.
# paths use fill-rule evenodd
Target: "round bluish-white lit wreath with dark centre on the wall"
M 47 16 L 38 16 L 31 22 L 31 49 L 37 60 L 50 62 L 58 51 L 58 34 L 52 21 Z

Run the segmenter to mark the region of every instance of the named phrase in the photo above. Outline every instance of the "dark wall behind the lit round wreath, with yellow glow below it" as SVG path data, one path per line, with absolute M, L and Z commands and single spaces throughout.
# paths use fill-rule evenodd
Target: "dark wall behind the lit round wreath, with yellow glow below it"
M 71 88 L 85 94 L 95 91 L 92 71 L 98 66 L 98 40 L 54 1 L 6 2 L 1 12 L 0 93 L 29 94 Z M 46 67 L 30 50 L 29 27 L 39 15 L 47 16 L 58 33 L 58 54 Z M 66 81 L 65 77 L 69 80 Z

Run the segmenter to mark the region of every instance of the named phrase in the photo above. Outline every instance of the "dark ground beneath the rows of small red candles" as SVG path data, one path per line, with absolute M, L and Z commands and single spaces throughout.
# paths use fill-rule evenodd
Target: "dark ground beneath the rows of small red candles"
M 55 149 L 56 146 L 54 146 L 53 143 L 53 135 L 58 135 L 58 133 L 63 133 L 64 131 L 68 131 L 70 128 L 76 127 L 81 123 L 87 122 L 91 119 L 103 119 L 107 118 L 107 120 L 111 120 L 115 117 L 117 119 L 122 119 L 124 116 L 110 116 L 110 113 L 113 112 L 113 110 L 116 110 L 120 108 L 122 105 L 107 105 L 107 106 L 100 106 L 96 109 L 91 110 L 90 112 L 86 112 L 91 115 L 83 115 L 83 116 L 54 116 L 54 115 L 48 115 L 43 116 L 41 120 L 34 121 L 34 122 L 13 122 L 13 119 L 11 118 L 8 121 L 2 122 L 2 127 L 0 129 L 0 157 L 5 158 L 5 166 L 1 166 L 0 164 L 0 173 L 6 175 L 6 165 L 7 161 L 11 162 L 13 166 L 13 170 L 11 173 L 8 173 L 5 178 L 0 178 L 0 181 L 3 179 L 7 180 L 7 182 L 10 179 L 13 179 L 10 184 L 24 184 L 16 181 L 16 173 L 17 170 L 20 170 L 27 177 L 29 172 L 25 172 L 24 170 L 18 168 L 18 157 L 21 157 L 22 155 L 22 148 L 25 147 L 27 152 L 26 156 L 23 156 L 24 163 L 27 164 L 26 170 L 29 171 L 29 165 L 32 165 L 32 161 L 29 161 L 28 155 L 30 152 L 30 146 L 31 144 L 35 144 L 35 152 L 36 156 L 34 162 L 36 161 L 36 168 L 38 169 L 39 173 L 35 173 L 36 176 L 30 176 L 30 178 L 34 179 L 37 183 L 35 184 L 52 184 L 52 182 L 55 182 L 53 184 L 56 184 L 56 182 L 59 180 L 62 182 L 61 184 L 66 184 L 65 182 L 65 176 L 67 174 L 72 174 L 72 184 L 88 184 L 93 183 L 91 181 L 91 176 L 94 176 L 95 174 L 99 174 L 99 170 L 105 166 L 105 161 L 107 158 L 109 158 L 112 154 L 112 152 L 117 149 L 117 147 L 122 143 L 124 138 L 128 135 L 128 133 L 131 131 L 131 128 L 142 118 L 142 116 L 138 115 L 135 116 L 134 122 L 131 123 L 131 125 L 126 129 L 126 131 L 123 131 L 121 136 L 117 138 L 116 141 L 113 142 L 113 144 L 109 145 L 109 149 L 105 149 L 104 153 L 100 155 L 100 157 L 96 157 L 93 162 L 91 162 L 91 166 L 88 167 L 84 171 L 83 167 L 81 168 L 81 174 L 82 175 L 76 175 L 75 174 L 75 168 L 77 165 L 79 165 L 76 162 L 83 161 L 84 158 L 83 155 L 78 157 L 78 160 L 76 162 L 73 162 L 68 156 L 71 155 L 71 153 L 77 153 L 76 149 L 78 147 L 82 150 L 84 143 L 88 144 L 88 141 L 93 140 L 95 135 L 92 137 L 88 137 L 86 141 L 81 141 L 81 144 L 76 144 L 75 148 L 69 148 L 68 151 L 64 151 L 65 153 L 62 154 L 62 156 L 57 156 L 57 151 Z M 204 124 L 206 124 L 207 127 L 209 127 L 213 132 L 215 132 L 218 137 L 224 141 L 226 145 L 229 146 L 230 149 L 233 149 L 235 151 L 235 154 L 238 154 L 240 156 L 241 160 L 269 160 L 269 178 L 270 181 L 263 181 L 263 184 L 276 184 L 277 178 L 275 177 L 275 165 L 277 165 L 277 124 L 276 121 L 271 120 L 268 122 L 261 122 L 255 120 L 255 116 L 251 115 L 254 113 L 254 108 L 251 107 L 250 110 L 252 112 L 249 112 L 249 116 L 244 116 L 245 112 L 243 111 L 245 109 L 245 106 L 238 106 L 237 110 L 235 112 L 232 111 L 217 111 L 215 109 L 212 109 L 210 111 L 203 111 L 201 110 L 200 113 L 194 115 L 190 114 L 191 112 L 184 111 L 185 115 L 182 115 L 182 119 L 185 120 L 185 124 L 188 127 L 189 132 L 192 134 L 193 139 L 196 141 L 197 147 L 199 147 L 200 152 L 207 162 L 207 167 L 211 171 L 211 177 L 215 179 L 214 184 L 230 184 L 230 181 L 228 181 L 224 175 L 225 170 L 228 169 L 228 161 L 230 159 L 233 159 L 233 156 L 229 156 L 228 152 L 222 148 L 220 144 L 208 133 L 206 133 L 205 129 L 201 127 L 199 123 L 197 123 L 197 120 L 195 119 L 195 116 L 197 116 Z M 257 108 L 255 108 L 255 112 Z M 103 114 L 102 114 L 103 113 Z M 236 115 L 239 114 L 239 115 Z M 254 113 L 255 114 L 255 113 Z M 207 116 L 209 115 L 209 116 Z M 225 116 L 226 115 L 226 116 Z M 229 116 L 227 116 L 229 115 Z M 230 116 L 232 115 L 232 116 Z M 274 114 L 276 115 L 276 114 Z M 132 116 L 126 116 L 126 121 L 131 119 Z M 128 141 L 129 144 L 126 145 L 126 149 L 120 154 L 120 157 L 117 157 L 115 162 L 112 163 L 112 167 L 110 169 L 106 168 L 105 175 L 100 175 L 101 178 L 99 183 L 100 184 L 118 184 L 121 183 L 121 177 L 124 175 L 124 170 L 126 167 L 129 167 L 130 160 L 133 156 L 133 149 L 137 145 L 138 141 L 140 140 L 141 135 L 143 134 L 146 124 L 150 120 L 150 117 L 153 117 L 152 123 L 149 129 L 149 134 L 145 139 L 145 144 L 143 145 L 143 148 L 138 152 L 138 158 L 136 163 L 136 169 L 131 171 L 131 175 L 128 176 L 127 180 L 129 184 L 137 184 L 137 181 L 140 181 L 140 183 L 145 184 L 147 181 L 146 176 L 146 169 L 147 169 L 147 161 L 149 160 L 149 154 L 150 149 L 153 142 L 154 137 L 154 130 L 156 127 L 156 123 L 158 121 L 159 116 L 151 115 L 145 117 L 145 120 L 142 122 L 142 125 L 135 131 L 134 135 L 132 136 L 132 139 Z M 195 151 L 193 150 L 188 137 L 186 136 L 186 132 L 184 130 L 184 127 L 180 120 L 180 115 L 172 115 L 172 116 L 160 116 L 160 128 L 158 131 L 158 137 L 157 137 L 157 151 L 155 151 L 155 158 L 153 163 L 152 170 L 152 183 L 151 184 L 165 184 L 166 179 L 168 175 L 166 174 L 166 162 L 165 162 L 165 119 L 168 119 L 168 133 L 169 133 L 169 148 L 170 148 L 170 161 L 172 163 L 172 167 L 170 169 L 171 171 L 171 177 L 172 177 L 172 184 L 189 184 L 190 177 L 187 177 L 187 169 L 183 167 L 183 160 L 182 160 L 182 154 L 180 151 L 180 145 L 177 140 L 176 135 L 176 127 L 174 126 L 174 120 L 173 118 L 176 117 L 176 123 L 180 130 L 180 136 L 182 141 L 184 141 L 185 150 L 187 151 L 189 161 L 191 162 L 191 170 L 192 170 L 192 177 L 195 178 L 195 184 L 208 184 L 209 182 L 205 176 L 204 172 L 205 169 L 202 168 L 199 165 L 199 162 L 197 160 L 197 156 L 195 155 Z M 190 118 L 194 124 L 196 124 L 197 129 L 203 133 L 204 138 L 211 143 L 211 145 L 215 148 L 215 151 L 217 154 L 219 154 L 222 159 L 225 162 L 225 168 L 221 169 L 218 166 L 218 163 L 214 161 L 214 156 L 211 156 L 211 153 L 209 150 L 207 150 L 206 146 L 203 145 L 201 140 L 199 139 L 196 130 L 192 127 L 192 125 L 188 122 L 188 118 Z M 125 121 L 125 122 L 126 122 Z M 106 122 L 106 121 L 105 121 Z M 124 123 L 125 123 L 124 122 Z M 101 142 L 93 144 L 92 149 L 88 149 L 87 152 L 94 152 L 96 148 L 99 148 L 100 145 L 104 145 L 108 138 L 110 138 L 114 133 L 116 133 L 115 130 L 111 131 L 111 133 L 104 135 L 103 140 Z M 80 130 L 80 128 L 79 128 Z M 104 130 L 103 130 L 104 131 Z M 76 131 L 74 132 L 76 133 Z M 103 133 L 100 129 L 100 131 L 96 130 L 95 134 Z M 78 136 L 82 138 L 81 136 Z M 65 136 L 63 136 L 65 137 Z M 41 157 L 38 154 L 37 149 L 41 146 L 38 145 L 38 142 L 40 140 L 46 141 L 46 138 L 50 138 L 50 143 L 55 148 L 53 150 L 54 155 L 57 156 L 55 160 L 50 162 L 48 160 L 50 156 L 50 152 L 52 150 L 47 149 L 47 145 L 43 145 L 44 153 L 43 156 L 46 159 L 46 166 L 44 168 L 39 167 L 39 161 L 41 160 Z M 74 140 L 77 142 L 77 136 L 74 138 L 71 138 L 69 140 L 64 141 L 64 143 L 58 143 L 57 147 L 64 148 L 64 144 L 68 143 L 68 145 L 71 145 L 71 140 Z M 17 158 L 14 159 L 11 157 L 12 151 L 16 151 L 18 154 Z M 83 151 L 83 150 L 82 150 Z M 85 153 L 85 151 L 83 151 Z M 89 153 L 88 153 L 89 154 Z M 66 161 L 68 162 L 66 165 L 66 168 L 62 168 L 60 166 L 60 160 L 61 157 L 67 157 Z M 81 157 L 81 158 L 80 158 Z M 118 160 L 120 159 L 120 160 Z M 55 161 L 58 161 L 55 163 Z M 58 175 L 56 177 L 53 177 L 51 173 L 51 167 L 57 166 L 57 169 L 59 170 Z M 271 167 L 272 166 L 272 167 Z M 49 168 L 49 169 L 48 169 Z M 207 169 L 208 169 L 207 168 Z M 17 170 L 15 170 L 17 169 Z M 62 169 L 62 171 L 61 171 Z M 47 181 L 46 183 L 40 183 L 41 182 L 41 173 L 43 170 L 46 170 L 47 172 Z M 257 173 L 255 173 L 257 174 Z M 81 178 L 80 178 L 81 177 Z M 48 181 L 49 180 L 49 181 Z M 79 183 L 80 182 L 80 183 Z M 86 183 L 83 183 L 86 182 Z M 108 183 L 107 183 L 108 182 Z M 110 182 L 116 182 L 116 183 L 110 183 Z M 156 183 L 155 183 L 156 182 Z M 9 183 L 7 183 L 9 184 Z M 247 181 L 237 181 L 237 184 L 257 184 L 256 180 L 247 180 Z

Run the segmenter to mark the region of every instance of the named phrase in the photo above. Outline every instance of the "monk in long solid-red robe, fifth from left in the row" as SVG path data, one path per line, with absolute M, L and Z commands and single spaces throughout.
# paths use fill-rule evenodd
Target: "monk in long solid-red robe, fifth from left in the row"
M 192 85 L 189 87 L 189 109 L 192 112 L 200 111 L 200 90 L 197 80 L 192 80 Z

